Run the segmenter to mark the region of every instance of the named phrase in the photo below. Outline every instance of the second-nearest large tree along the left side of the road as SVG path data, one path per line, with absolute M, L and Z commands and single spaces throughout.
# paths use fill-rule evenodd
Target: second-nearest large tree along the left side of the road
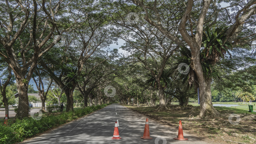
M 82 77 L 84 64 L 94 55 L 104 53 L 108 56 L 110 52 L 108 46 L 116 40 L 113 27 L 108 25 L 107 16 L 99 12 L 97 4 L 88 4 L 78 10 L 81 10 L 82 15 L 86 17 L 73 33 L 67 35 L 68 46 L 63 50 L 59 49 L 61 54 L 55 60 L 48 59 L 47 63 L 40 63 L 66 94 L 66 111 L 73 110 L 73 91 Z M 107 50 L 103 51 L 103 49 Z M 55 50 L 52 53 L 56 55 Z M 106 60 L 103 59 L 102 62 Z

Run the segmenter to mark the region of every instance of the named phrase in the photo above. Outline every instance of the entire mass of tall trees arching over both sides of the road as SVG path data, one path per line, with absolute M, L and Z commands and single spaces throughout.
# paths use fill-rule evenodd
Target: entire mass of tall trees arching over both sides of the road
M 7 110 L 19 93 L 17 118 L 27 117 L 28 102 L 35 101 L 27 93 L 39 93 L 43 105 L 63 102 L 66 111 L 137 99 L 159 101 L 162 111 L 174 99 L 186 106 L 199 97 L 199 117 L 220 115 L 212 100 L 255 100 L 255 0 L 6 0 L 0 6 L 0 98 Z

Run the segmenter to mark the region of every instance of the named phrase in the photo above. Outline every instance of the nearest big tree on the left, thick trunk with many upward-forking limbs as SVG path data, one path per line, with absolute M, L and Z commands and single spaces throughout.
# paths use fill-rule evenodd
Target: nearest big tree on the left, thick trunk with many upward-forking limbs
M 3 5 L 3 9 L 1 9 L 3 15 L 1 15 L 0 25 L 3 34 L 0 36 L 0 43 L 3 45 L 3 50 L 0 54 L 6 58 L 14 72 L 19 93 L 19 107 L 16 117 L 23 119 L 28 116 L 28 83 L 39 58 L 55 45 L 55 43 L 47 43 L 52 38 L 58 24 L 55 16 L 69 2 L 63 0 L 46 2 L 42 0 L 39 3 L 33 0 L 23 3 L 16 0 L 1 4 Z M 31 7 L 32 5 L 33 7 Z M 31 10 L 32 15 L 30 15 Z

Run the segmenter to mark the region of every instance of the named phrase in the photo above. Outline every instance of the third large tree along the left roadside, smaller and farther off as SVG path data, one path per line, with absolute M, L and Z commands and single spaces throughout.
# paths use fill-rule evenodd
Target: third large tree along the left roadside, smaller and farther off
M 114 50 L 117 54 L 117 50 Z M 121 65 L 118 63 L 111 62 L 114 57 L 91 57 L 90 60 L 86 62 L 86 66 L 82 71 L 82 79 L 78 83 L 78 89 L 81 92 L 84 99 L 84 106 L 87 106 L 88 98 L 92 100 L 92 92 L 96 87 L 107 86 L 118 74 L 119 70 L 122 69 Z M 118 67 L 119 66 L 119 67 Z M 98 99 L 99 96 L 96 96 Z M 92 105 L 92 101 L 90 101 Z

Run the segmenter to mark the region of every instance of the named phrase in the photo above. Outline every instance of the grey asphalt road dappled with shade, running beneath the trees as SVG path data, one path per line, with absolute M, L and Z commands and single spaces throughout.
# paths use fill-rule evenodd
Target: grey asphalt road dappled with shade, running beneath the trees
M 146 118 L 118 104 L 108 105 L 101 110 L 66 123 L 45 134 L 25 140 L 20 144 L 210 144 L 198 137 L 187 135 L 187 141 L 177 141 L 178 129 L 164 125 L 149 118 L 150 137 L 143 136 Z M 119 122 L 119 135 L 122 139 L 112 140 L 115 121 Z M 177 122 L 177 127 L 179 122 Z M 183 131 L 184 132 L 184 131 Z

